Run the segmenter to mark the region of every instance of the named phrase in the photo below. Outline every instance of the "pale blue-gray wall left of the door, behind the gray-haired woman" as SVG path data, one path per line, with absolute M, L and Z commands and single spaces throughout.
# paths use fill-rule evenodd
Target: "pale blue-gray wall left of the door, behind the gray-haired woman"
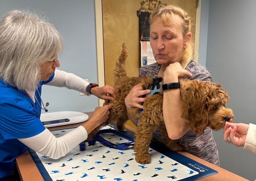
M 94 0 L 0 0 L 0 17 L 13 8 L 44 13 L 64 40 L 59 69 L 98 82 Z M 99 106 L 93 95 L 80 96 L 77 91 L 52 86 L 42 89 L 43 102 L 50 103 L 49 112 L 89 112 Z

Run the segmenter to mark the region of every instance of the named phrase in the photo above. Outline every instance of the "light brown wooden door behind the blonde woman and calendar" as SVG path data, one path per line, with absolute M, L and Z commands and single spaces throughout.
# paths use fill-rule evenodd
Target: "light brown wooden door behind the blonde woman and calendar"
M 105 84 L 114 85 L 113 69 L 124 42 L 129 56 L 126 70 L 137 77 L 140 68 L 139 17 L 137 10 L 142 0 L 102 0 L 103 49 Z M 161 0 L 161 3 L 179 5 L 191 16 L 192 41 L 195 41 L 196 0 Z

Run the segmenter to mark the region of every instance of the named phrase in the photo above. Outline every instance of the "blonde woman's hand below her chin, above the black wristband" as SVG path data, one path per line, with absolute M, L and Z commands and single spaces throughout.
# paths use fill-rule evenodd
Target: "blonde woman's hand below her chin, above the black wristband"
M 191 77 L 192 74 L 186 69 L 183 69 L 179 62 L 170 64 L 164 71 L 164 84 L 178 82 L 180 77 Z

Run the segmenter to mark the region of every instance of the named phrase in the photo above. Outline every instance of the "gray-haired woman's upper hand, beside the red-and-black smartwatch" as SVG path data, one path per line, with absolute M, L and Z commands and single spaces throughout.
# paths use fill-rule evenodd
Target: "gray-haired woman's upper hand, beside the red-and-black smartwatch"
M 116 97 L 114 88 L 109 85 L 105 85 L 103 87 L 93 87 L 91 89 L 91 93 L 100 99 L 109 101 L 113 101 L 114 97 Z

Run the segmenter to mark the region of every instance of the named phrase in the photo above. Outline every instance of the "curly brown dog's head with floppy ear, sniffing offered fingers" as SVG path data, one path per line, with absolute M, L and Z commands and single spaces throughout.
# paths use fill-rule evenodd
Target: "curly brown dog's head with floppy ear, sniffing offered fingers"
M 182 117 L 191 131 L 203 134 L 207 126 L 217 131 L 233 122 L 233 111 L 226 108 L 228 93 L 220 84 L 187 79 L 180 79 L 180 84 Z

